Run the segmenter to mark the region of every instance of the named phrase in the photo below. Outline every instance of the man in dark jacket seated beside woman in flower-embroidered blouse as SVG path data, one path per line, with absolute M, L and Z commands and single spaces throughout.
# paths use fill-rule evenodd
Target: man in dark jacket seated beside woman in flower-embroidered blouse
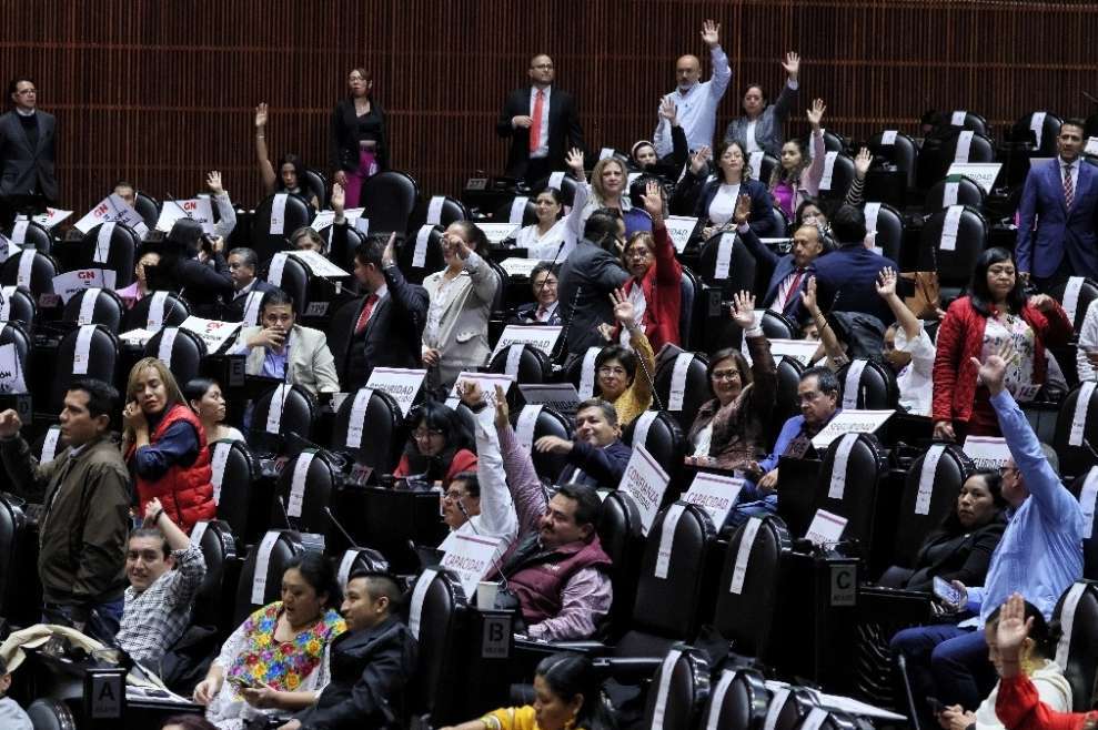
M 359 570 L 341 612 L 347 630 L 332 641 L 332 681 L 316 704 L 279 730 L 405 728 L 405 698 L 419 647 L 400 620 L 401 589 L 392 576 Z

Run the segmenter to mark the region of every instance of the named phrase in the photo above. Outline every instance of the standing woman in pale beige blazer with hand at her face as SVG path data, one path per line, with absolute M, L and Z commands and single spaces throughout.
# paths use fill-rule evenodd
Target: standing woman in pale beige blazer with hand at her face
M 423 328 L 423 364 L 433 388 L 453 387 L 462 371 L 484 364 L 488 315 L 500 280 L 480 252 L 488 247 L 484 232 L 469 221 L 451 223 L 442 239 L 446 268 L 423 280 L 431 305 Z

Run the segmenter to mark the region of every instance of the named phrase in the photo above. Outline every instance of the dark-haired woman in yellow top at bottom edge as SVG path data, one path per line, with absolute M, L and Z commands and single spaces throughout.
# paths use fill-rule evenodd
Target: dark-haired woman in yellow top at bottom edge
M 534 703 L 488 712 L 443 730 L 615 730 L 591 660 L 555 653 L 537 665 Z

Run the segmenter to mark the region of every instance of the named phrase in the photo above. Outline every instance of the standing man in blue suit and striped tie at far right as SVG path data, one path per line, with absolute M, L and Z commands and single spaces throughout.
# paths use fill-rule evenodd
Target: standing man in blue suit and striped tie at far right
M 1080 155 L 1084 140 L 1082 122 L 1064 122 L 1057 158 L 1030 168 L 1021 191 L 1018 271 L 1042 290 L 1069 276 L 1098 277 L 1098 176 Z

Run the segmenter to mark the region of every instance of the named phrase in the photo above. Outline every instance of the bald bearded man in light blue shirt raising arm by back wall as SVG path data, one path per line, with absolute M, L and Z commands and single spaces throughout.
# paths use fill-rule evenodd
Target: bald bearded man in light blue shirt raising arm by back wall
M 709 47 L 709 58 L 713 61 L 713 78 L 698 81 L 702 77 L 702 62 L 696 55 L 683 55 L 675 62 L 675 77 L 678 88 L 667 97 L 675 102 L 678 123 L 686 133 L 686 142 L 691 150 L 713 146 L 713 131 L 717 123 L 717 105 L 728 82 L 732 81 L 732 69 L 728 68 L 728 57 L 721 48 L 721 24 L 706 20 L 702 29 L 702 40 Z M 671 123 L 661 118 L 656 132 L 652 138 L 659 159 L 666 158 L 674 150 L 671 139 Z

